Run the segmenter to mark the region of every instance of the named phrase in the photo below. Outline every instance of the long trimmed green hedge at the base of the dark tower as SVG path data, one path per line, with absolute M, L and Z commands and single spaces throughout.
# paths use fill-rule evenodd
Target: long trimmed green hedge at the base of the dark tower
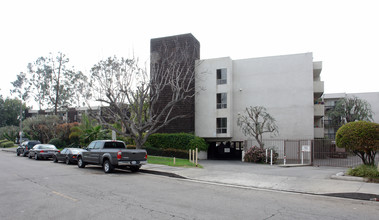
M 187 133 L 152 134 L 147 139 L 146 146 L 159 149 L 180 149 L 185 151 L 195 148 L 198 148 L 199 151 L 206 151 L 208 149 L 208 144 L 203 138 Z

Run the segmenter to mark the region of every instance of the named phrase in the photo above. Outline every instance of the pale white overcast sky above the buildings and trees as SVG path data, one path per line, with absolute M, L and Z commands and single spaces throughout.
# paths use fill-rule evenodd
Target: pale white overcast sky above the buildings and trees
M 372 0 L 2 0 L 0 93 L 61 51 L 88 72 L 117 55 L 148 61 L 150 39 L 192 33 L 201 59 L 313 52 L 325 93 L 379 92 L 379 3 Z

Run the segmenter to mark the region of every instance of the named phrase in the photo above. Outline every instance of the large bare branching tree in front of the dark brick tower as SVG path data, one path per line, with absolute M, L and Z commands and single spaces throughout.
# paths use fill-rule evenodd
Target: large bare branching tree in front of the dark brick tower
M 98 115 L 102 123 L 131 137 L 141 148 L 151 134 L 187 117 L 174 111 L 179 103 L 195 96 L 195 60 L 187 49 L 153 54 L 150 74 L 135 58 L 113 57 L 96 64 L 91 69 L 91 90 L 97 101 L 107 104 Z M 162 100 L 167 90 L 170 98 Z M 117 129 L 115 122 L 122 129 Z

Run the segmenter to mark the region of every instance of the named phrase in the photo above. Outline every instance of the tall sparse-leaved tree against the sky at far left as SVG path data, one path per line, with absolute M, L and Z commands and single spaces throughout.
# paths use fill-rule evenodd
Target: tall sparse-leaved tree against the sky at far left
M 40 109 L 53 107 L 57 114 L 59 108 L 70 106 L 78 99 L 87 79 L 82 72 L 68 67 L 68 63 L 66 55 L 59 52 L 56 57 L 50 54 L 28 65 L 34 98 Z

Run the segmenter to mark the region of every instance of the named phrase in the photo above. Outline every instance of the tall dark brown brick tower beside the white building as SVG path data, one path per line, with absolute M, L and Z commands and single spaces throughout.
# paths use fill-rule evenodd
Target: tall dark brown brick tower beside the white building
M 186 61 L 178 59 L 173 54 L 186 54 Z M 151 66 L 158 64 L 164 68 L 164 62 L 176 62 L 179 63 L 180 68 L 189 71 L 187 77 L 195 76 L 195 61 L 200 59 L 200 43 L 192 34 L 182 34 L 176 36 L 162 37 L 151 39 L 150 41 L 150 55 Z M 162 61 L 165 60 L 165 61 Z M 161 68 L 162 69 L 162 68 Z M 153 72 L 153 71 L 152 71 Z M 151 74 L 153 74 L 151 72 Z M 159 72 L 158 72 L 159 74 Z M 180 79 L 185 82 L 186 77 Z M 195 94 L 195 81 L 192 80 L 190 85 L 193 90 L 191 95 Z M 153 111 L 160 111 L 162 106 L 165 106 L 171 101 L 172 97 L 171 88 L 165 88 L 160 94 L 158 99 L 158 105 L 155 106 Z M 159 130 L 160 133 L 194 133 L 195 131 L 195 97 L 191 97 L 178 103 L 173 109 L 172 116 L 174 115 L 186 115 L 185 118 L 178 118 L 170 122 L 167 126 Z

